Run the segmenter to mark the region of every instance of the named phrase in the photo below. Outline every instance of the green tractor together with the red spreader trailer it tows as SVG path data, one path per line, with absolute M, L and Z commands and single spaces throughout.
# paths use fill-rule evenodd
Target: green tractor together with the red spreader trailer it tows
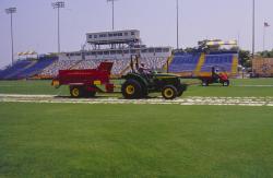
M 72 97 L 94 97 L 96 93 L 114 93 L 117 85 L 111 83 L 112 62 L 102 62 L 97 69 L 60 70 L 52 85 L 69 85 Z M 165 99 L 174 99 L 182 95 L 187 85 L 175 74 L 145 71 L 139 66 L 139 57 L 131 57 L 131 72 L 123 75 L 121 93 L 127 99 L 145 98 L 150 93 L 162 93 Z

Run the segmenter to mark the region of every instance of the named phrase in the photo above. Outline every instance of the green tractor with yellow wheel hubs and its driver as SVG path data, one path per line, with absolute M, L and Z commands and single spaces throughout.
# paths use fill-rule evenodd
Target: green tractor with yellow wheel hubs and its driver
M 131 72 L 122 75 L 126 80 L 121 86 L 124 98 L 145 98 L 150 93 L 161 92 L 165 99 L 174 99 L 187 90 L 187 84 L 182 84 L 178 75 L 147 71 L 142 67 L 139 66 L 139 56 L 131 56 Z

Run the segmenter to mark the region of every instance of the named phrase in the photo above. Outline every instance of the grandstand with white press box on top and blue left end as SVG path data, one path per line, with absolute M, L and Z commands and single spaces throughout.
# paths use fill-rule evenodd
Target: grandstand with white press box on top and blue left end
M 112 61 L 111 73 L 119 76 L 129 71 L 131 55 L 140 55 L 141 62 L 146 67 L 161 70 L 171 56 L 171 48 L 142 45 L 138 29 L 86 33 L 86 44 L 82 50 L 54 57 L 21 58 L 1 71 L 0 79 L 52 79 L 59 70 L 93 69 L 102 61 Z

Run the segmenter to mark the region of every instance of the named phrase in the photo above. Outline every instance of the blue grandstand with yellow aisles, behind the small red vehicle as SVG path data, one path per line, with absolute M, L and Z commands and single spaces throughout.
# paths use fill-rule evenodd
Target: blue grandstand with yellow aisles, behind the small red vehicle
M 237 75 L 238 49 L 235 40 L 203 40 L 197 50 L 191 52 L 176 51 L 168 61 L 168 71 L 186 78 L 210 75 L 213 67 L 230 76 Z M 233 46 L 232 49 L 221 49 Z

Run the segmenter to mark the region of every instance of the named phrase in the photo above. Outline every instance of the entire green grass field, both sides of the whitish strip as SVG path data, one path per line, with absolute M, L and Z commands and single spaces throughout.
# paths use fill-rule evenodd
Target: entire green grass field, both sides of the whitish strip
M 272 79 L 232 83 L 183 96 L 273 96 Z M 7 81 L 0 94 L 68 88 Z M 272 116 L 272 107 L 0 103 L 0 177 L 273 177 Z

